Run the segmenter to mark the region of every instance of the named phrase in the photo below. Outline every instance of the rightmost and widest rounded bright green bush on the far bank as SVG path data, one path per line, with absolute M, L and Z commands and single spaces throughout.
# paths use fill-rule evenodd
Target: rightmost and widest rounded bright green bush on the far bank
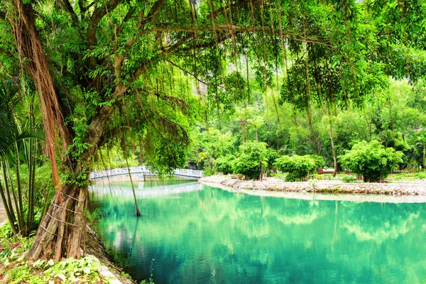
M 403 153 L 385 148 L 376 140 L 356 143 L 351 151 L 339 157 L 345 168 L 364 177 L 364 182 L 383 181 L 398 163 L 403 163 Z

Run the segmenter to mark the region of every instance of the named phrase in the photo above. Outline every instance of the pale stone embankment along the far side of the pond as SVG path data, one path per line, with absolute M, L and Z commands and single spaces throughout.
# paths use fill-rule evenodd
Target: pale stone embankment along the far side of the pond
M 216 175 L 201 178 L 199 181 L 210 185 L 220 185 L 237 191 L 253 190 L 263 192 L 293 192 L 300 194 L 328 193 L 343 195 L 387 195 L 391 197 L 413 197 L 412 199 L 415 200 L 415 202 L 422 202 L 420 200 L 426 201 L 426 180 L 399 181 L 391 183 L 364 183 L 342 182 L 339 180 L 285 182 L 276 178 L 266 178 L 266 180 L 260 182 L 252 180 L 236 180 Z

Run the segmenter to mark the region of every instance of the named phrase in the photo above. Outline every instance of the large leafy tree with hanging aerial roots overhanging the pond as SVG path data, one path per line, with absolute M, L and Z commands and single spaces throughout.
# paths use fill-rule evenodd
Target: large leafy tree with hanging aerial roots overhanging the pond
M 357 79 L 358 72 L 368 75 L 371 65 L 364 44 L 368 38 L 360 35 L 373 31 L 357 29 L 361 5 L 272 0 L 0 1 L 0 36 L 6 43 L 0 44 L 0 54 L 10 58 L 9 70 L 18 68 L 19 62 L 33 80 L 57 186 L 28 257 L 80 256 L 89 172 L 97 150 L 111 138 L 131 133 L 143 140 L 156 165 L 168 169 L 183 163 L 188 138 L 182 117 L 194 111 L 189 107 L 193 97 L 182 95 L 173 72 L 195 78 L 191 82 L 198 94 L 206 84 L 206 102 L 217 109 L 250 96 L 238 67 L 243 55 L 254 62 L 265 87 L 271 69 L 293 68 L 294 74 L 299 68 L 307 78 L 300 83 L 304 90 L 293 88 L 299 95 L 317 94 L 339 102 L 361 97 L 371 80 Z M 229 67 L 226 62 L 236 64 Z M 289 78 L 295 84 L 302 80 Z M 339 82 L 344 82 L 339 89 L 346 86 L 340 96 L 335 90 L 314 87 Z M 186 94 L 192 94 L 190 86 Z

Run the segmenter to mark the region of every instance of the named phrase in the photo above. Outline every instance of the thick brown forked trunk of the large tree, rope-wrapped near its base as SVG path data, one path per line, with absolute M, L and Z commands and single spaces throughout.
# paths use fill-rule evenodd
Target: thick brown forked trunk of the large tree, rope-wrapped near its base
M 118 2 L 117 2 L 118 3 Z M 67 180 L 61 185 L 58 166 L 55 157 L 55 141 L 62 138 L 62 150 L 74 142 L 74 131 L 72 126 L 65 125 L 69 109 L 62 106 L 60 97 L 55 89 L 55 83 L 50 72 L 50 62 L 46 57 L 43 44 L 40 41 L 38 30 L 35 27 L 34 15 L 31 1 L 13 0 L 11 9 L 16 16 L 9 18 L 13 29 L 13 37 L 16 41 L 21 66 L 28 70 L 33 78 L 35 89 L 40 99 L 43 114 L 43 122 L 46 134 L 46 148 L 52 165 L 53 183 L 56 187 L 55 197 L 41 222 L 35 241 L 26 256 L 28 258 L 54 258 L 59 261 L 62 257 L 79 258 L 82 232 L 84 231 L 84 207 L 87 204 L 87 187 L 89 172 L 91 170 L 92 157 L 97 149 L 102 146 L 101 137 L 105 126 L 111 120 L 111 114 L 116 104 L 99 107 L 97 114 L 89 121 L 87 132 L 80 143 L 90 145 L 82 150 L 81 144 L 75 144 L 75 153 L 68 153 L 62 157 L 62 165 L 66 170 Z M 101 17 L 102 18 L 102 17 Z M 96 28 L 88 31 L 92 32 Z M 92 40 L 94 37 L 89 37 Z M 23 59 L 28 60 L 23 60 Z M 120 58 L 116 58 L 116 75 L 120 77 Z M 96 67 L 96 66 L 95 66 Z M 140 69 L 140 70 L 143 70 Z M 143 71 L 141 71 L 143 72 Z M 140 74 L 136 74 L 138 77 Z M 124 94 L 129 87 L 121 82 L 116 83 L 114 92 L 110 98 L 118 98 Z M 80 148 L 79 148 L 80 147 Z M 15 200 L 17 198 L 15 197 Z M 16 208 L 18 208 L 16 206 Z

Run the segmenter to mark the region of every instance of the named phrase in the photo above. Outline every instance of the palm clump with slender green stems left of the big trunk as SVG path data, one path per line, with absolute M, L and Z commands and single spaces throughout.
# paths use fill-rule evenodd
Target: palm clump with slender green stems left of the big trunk
M 16 114 L 17 101 L 0 87 L 0 197 L 13 234 L 27 235 L 34 229 L 35 166 L 38 141 L 43 131 L 35 124 L 33 107 L 30 116 L 20 121 Z M 28 168 L 28 190 L 23 196 L 21 165 Z M 13 182 L 13 174 L 16 182 Z M 24 202 L 24 200 L 26 202 Z

